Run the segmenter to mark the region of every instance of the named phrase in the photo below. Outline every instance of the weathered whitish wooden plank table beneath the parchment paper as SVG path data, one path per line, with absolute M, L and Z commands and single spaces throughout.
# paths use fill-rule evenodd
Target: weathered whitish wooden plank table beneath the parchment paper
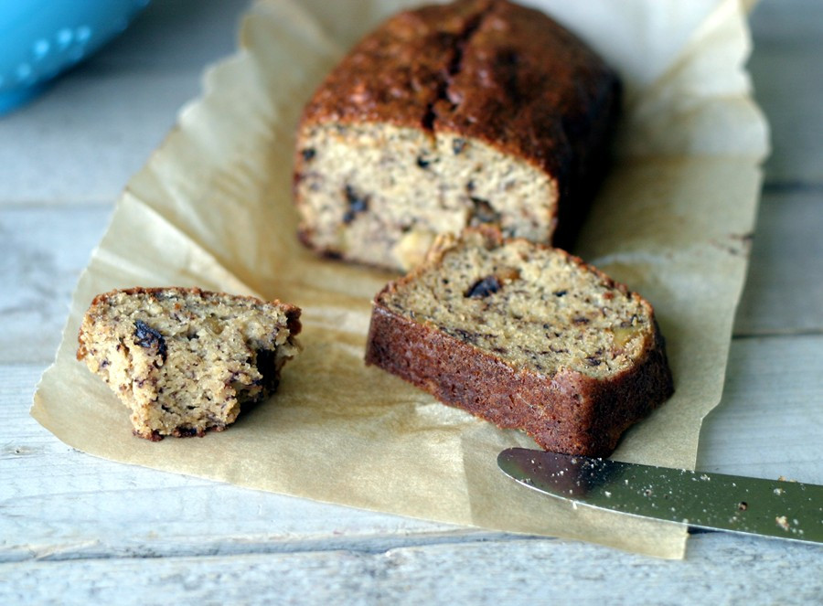
M 823 548 L 701 533 L 684 561 L 445 526 L 102 461 L 28 416 L 113 201 L 234 48 L 246 0 L 155 2 L 0 119 L 0 603 L 823 603 Z M 773 127 L 699 465 L 823 484 L 823 3 L 764 0 Z

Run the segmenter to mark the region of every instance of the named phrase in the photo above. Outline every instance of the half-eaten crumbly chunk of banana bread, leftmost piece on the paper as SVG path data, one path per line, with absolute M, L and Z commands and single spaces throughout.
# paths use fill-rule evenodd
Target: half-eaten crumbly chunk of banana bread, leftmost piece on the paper
M 132 410 L 136 435 L 202 436 L 274 391 L 299 318 L 293 305 L 197 288 L 106 292 L 83 317 L 77 358 Z

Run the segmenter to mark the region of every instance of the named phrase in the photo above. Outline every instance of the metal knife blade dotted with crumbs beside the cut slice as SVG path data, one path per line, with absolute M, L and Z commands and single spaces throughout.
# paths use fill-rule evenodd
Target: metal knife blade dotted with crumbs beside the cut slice
M 630 516 L 823 542 L 823 486 L 510 448 L 500 469 L 541 493 Z M 576 505 L 575 505 L 576 506 Z

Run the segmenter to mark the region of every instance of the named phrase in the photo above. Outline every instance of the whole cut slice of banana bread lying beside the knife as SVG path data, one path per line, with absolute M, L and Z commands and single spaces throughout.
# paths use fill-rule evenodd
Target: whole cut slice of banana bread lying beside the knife
M 374 300 L 367 364 L 553 452 L 606 456 L 671 395 L 652 307 L 582 260 L 444 236 Z

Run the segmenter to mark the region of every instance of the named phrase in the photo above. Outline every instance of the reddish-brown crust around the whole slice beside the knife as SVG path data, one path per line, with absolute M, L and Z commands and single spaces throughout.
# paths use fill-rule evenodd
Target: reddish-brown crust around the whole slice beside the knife
M 571 367 L 545 372 L 518 367 L 505 354 L 476 346 L 414 310 L 398 313 L 388 302 L 399 288 L 425 271 L 438 271 L 442 252 L 428 263 L 390 282 L 375 297 L 366 363 L 376 365 L 431 393 L 442 402 L 468 410 L 501 428 L 526 431 L 545 450 L 607 456 L 623 432 L 673 392 L 671 373 L 654 314 L 647 302 L 609 280 L 582 260 L 569 256 L 607 281 L 616 292 L 647 307 L 650 321 L 642 355 L 631 367 L 592 377 Z M 481 330 L 483 327 L 478 327 Z M 547 344 L 548 346 L 548 344 Z

